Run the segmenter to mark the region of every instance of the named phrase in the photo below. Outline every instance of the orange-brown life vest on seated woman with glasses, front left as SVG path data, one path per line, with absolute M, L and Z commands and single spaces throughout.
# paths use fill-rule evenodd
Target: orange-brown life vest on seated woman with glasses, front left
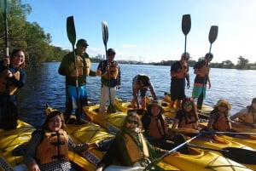
M 68 136 L 61 129 L 58 132 L 45 132 L 42 142 L 37 148 L 37 159 L 41 164 L 56 160 L 68 161 Z

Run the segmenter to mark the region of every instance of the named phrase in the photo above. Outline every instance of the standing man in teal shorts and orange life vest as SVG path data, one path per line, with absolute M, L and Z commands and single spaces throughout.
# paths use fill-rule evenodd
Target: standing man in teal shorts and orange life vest
M 198 61 L 195 63 L 194 66 L 194 73 L 195 76 L 195 82 L 194 82 L 194 88 L 192 92 L 192 98 L 195 100 L 195 98 L 198 98 L 201 92 L 204 93 L 203 99 L 206 98 L 206 91 L 207 91 L 207 83 L 209 83 L 209 88 L 211 88 L 211 82 L 210 82 L 210 66 L 209 62 L 212 60 L 213 54 L 207 53 L 205 55 L 204 60 Z M 200 103 L 197 103 L 197 109 L 201 110 Z

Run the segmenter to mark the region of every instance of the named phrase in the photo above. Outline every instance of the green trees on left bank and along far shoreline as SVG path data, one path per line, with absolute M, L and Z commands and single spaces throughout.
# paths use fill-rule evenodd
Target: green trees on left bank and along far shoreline
M 21 3 L 21 0 L 12 0 L 8 14 L 9 31 L 9 51 L 14 48 L 21 48 L 26 53 L 26 67 L 41 66 L 43 62 L 61 61 L 63 56 L 69 52 L 68 49 L 62 49 L 51 45 L 51 35 L 45 33 L 44 29 L 37 22 L 28 22 L 26 15 L 31 14 L 32 7 L 28 3 Z M 2 8 L 0 9 L 1 13 Z M 5 56 L 5 26 L 3 14 L 0 15 L 0 56 Z M 91 57 L 92 62 L 101 61 L 101 58 Z M 157 63 L 149 63 L 155 66 L 171 66 L 174 60 L 162 60 Z M 195 65 L 195 60 L 189 60 L 189 66 Z M 120 61 L 127 64 L 143 64 L 136 61 Z M 256 63 L 250 64 L 249 60 L 242 56 L 238 58 L 237 64 L 230 60 L 224 60 L 221 63 L 211 63 L 211 67 L 216 68 L 236 68 L 236 69 L 256 69 Z

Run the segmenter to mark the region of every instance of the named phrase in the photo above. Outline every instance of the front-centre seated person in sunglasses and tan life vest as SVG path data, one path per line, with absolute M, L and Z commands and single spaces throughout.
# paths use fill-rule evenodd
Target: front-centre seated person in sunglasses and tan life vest
M 137 113 L 130 112 L 106 155 L 98 163 L 96 171 L 107 168 L 113 163 L 113 159 L 118 160 L 121 166 L 145 168 L 151 161 L 165 153 L 165 150 L 148 143 L 142 133 L 140 117 Z M 172 154 L 176 155 L 177 152 Z

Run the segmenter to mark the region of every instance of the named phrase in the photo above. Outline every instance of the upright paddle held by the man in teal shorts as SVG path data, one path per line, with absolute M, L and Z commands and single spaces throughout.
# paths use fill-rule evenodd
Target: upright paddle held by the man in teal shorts
M 210 42 L 210 50 L 209 53 L 211 53 L 211 49 L 212 49 L 212 43 L 216 40 L 218 36 L 218 26 L 211 26 L 211 29 L 209 31 L 209 42 Z M 201 94 L 199 95 L 198 99 L 197 99 L 197 109 L 201 110 L 201 106 L 203 104 L 203 100 L 204 100 L 204 88 L 205 88 L 205 83 L 207 82 L 207 76 L 204 78 L 204 82 L 201 88 Z

